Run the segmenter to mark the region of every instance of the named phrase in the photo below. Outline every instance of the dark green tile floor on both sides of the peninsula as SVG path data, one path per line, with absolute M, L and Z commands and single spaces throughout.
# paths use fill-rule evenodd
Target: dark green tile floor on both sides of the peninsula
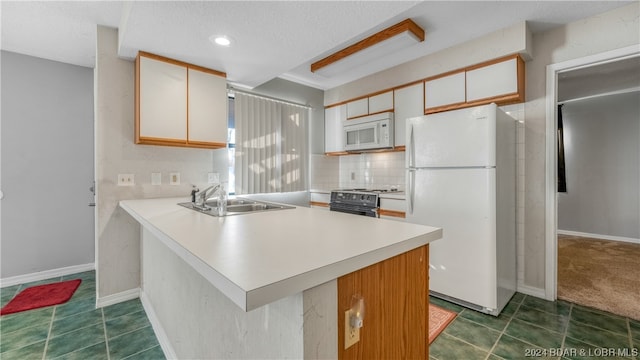
M 0 359 L 164 359 L 138 299 L 95 309 L 93 271 L 2 288 L 0 306 L 29 286 L 75 278 L 69 302 L 0 318 Z M 432 360 L 640 360 L 640 321 L 519 293 L 498 317 L 431 301 L 458 313 L 431 344 Z

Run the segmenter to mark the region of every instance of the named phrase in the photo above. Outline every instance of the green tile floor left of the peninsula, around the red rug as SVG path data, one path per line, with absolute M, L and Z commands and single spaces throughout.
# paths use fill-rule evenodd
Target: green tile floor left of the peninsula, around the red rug
M 93 271 L 2 288 L 0 306 L 29 286 L 77 278 L 67 303 L 0 317 L 0 359 L 164 359 L 139 299 L 95 308 Z

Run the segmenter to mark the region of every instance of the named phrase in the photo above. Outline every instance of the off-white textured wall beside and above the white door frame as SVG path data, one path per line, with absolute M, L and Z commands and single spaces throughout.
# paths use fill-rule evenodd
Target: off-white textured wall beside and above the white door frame
M 547 65 L 640 44 L 640 3 L 534 34 L 525 104 L 525 284 L 545 287 Z

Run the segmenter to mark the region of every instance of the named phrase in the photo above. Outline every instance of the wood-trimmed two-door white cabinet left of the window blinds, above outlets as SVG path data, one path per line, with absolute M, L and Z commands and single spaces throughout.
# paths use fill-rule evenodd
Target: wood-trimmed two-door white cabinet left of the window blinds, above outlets
M 225 73 L 141 51 L 135 86 L 136 144 L 227 146 Z

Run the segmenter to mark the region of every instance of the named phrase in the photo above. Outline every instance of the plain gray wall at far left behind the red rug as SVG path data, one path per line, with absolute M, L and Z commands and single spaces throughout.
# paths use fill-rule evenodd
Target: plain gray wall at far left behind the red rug
M 2 51 L 2 278 L 94 262 L 93 70 Z

